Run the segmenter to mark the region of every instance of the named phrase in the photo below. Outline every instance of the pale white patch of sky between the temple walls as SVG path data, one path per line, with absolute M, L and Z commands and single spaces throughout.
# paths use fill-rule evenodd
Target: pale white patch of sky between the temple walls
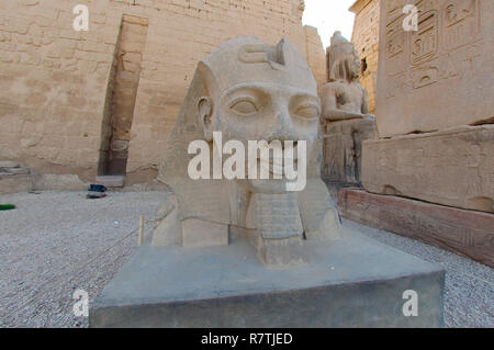
M 348 9 L 356 0 L 305 0 L 305 11 L 302 23 L 315 26 L 324 47 L 329 46 L 335 31 L 351 39 L 355 14 Z

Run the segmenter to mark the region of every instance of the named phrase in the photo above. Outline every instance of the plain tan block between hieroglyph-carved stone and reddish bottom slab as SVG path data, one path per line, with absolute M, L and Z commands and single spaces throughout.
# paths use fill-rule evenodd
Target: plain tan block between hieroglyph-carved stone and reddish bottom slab
M 363 143 L 367 191 L 494 213 L 494 125 Z

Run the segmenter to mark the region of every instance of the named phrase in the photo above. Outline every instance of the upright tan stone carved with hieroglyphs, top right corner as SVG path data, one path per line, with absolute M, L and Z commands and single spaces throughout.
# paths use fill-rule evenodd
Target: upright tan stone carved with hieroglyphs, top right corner
M 403 29 L 407 3 L 416 32 Z M 382 1 L 380 22 L 380 137 L 492 123 L 494 1 Z

